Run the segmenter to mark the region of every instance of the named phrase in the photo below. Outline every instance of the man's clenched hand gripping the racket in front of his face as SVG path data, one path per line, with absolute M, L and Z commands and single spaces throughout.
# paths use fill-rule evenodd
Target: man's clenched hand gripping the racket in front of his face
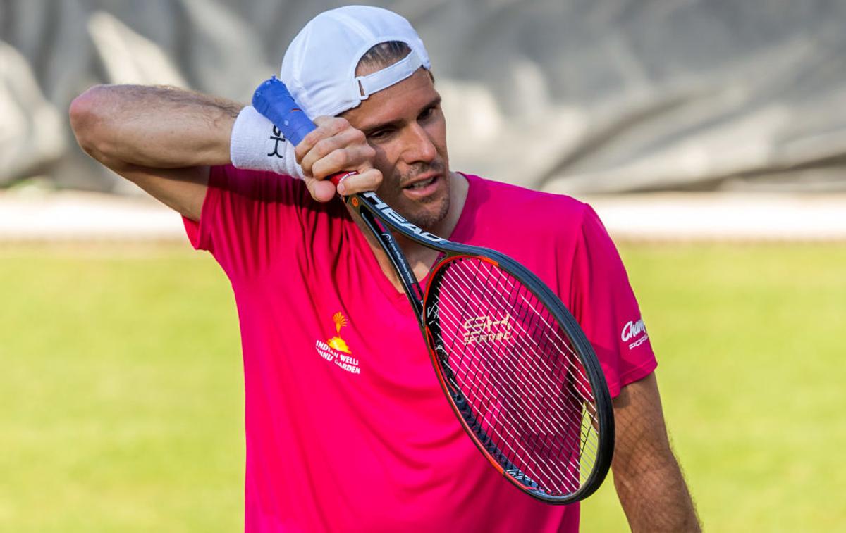
M 311 197 L 318 202 L 334 198 L 336 188 L 327 178 L 343 171 L 355 171 L 356 175 L 345 178 L 338 193 L 375 191 L 382 183 L 382 172 L 373 167 L 376 150 L 367 144 L 365 134 L 340 117 L 317 117 L 315 124 L 316 130 L 296 147 Z

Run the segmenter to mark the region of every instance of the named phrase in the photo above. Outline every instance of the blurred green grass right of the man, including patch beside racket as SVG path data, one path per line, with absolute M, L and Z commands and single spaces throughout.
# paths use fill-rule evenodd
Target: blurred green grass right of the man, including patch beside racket
M 706 530 L 846 524 L 846 247 L 624 247 Z M 624 530 L 613 485 L 585 530 Z

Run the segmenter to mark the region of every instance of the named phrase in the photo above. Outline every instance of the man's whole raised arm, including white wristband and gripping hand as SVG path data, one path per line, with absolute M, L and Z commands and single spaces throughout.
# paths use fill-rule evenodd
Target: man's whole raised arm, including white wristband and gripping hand
M 321 180 L 339 171 L 358 172 L 345 180 L 344 193 L 376 190 L 382 173 L 373 168 L 376 151 L 364 133 L 343 118 L 315 122 L 317 129 L 296 150 L 303 166 L 295 168 L 294 147 L 280 149 L 287 141 L 274 136 L 272 124 L 238 102 L 173 87 L 97 85 L 70 105 L 71 127 L 85 152 L 192 220 L 200 219 L 209 167 L 232 162 L 230 154 L 241 157 L 241 168 L 305 177 L 321 202 L 335 196 L 335 186 Z M 277 150 L 286 155 L 283 164 Z

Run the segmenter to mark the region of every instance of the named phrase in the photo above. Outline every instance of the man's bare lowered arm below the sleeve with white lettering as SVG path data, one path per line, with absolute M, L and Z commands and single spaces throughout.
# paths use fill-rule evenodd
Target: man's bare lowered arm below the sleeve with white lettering
M 634 533 L 699 531 L 699 520 L 667 439 L 655 374 L 614 398 L 614 486 Z

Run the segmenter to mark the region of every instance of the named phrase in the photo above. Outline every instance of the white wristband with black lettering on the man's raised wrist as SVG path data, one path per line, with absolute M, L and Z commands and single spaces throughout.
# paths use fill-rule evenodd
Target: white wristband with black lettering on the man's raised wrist
M 294 144 L 253 106 L 244 107 L 235 119 L 229 158 L 235 168 L 304 176 L 294 155 Z

